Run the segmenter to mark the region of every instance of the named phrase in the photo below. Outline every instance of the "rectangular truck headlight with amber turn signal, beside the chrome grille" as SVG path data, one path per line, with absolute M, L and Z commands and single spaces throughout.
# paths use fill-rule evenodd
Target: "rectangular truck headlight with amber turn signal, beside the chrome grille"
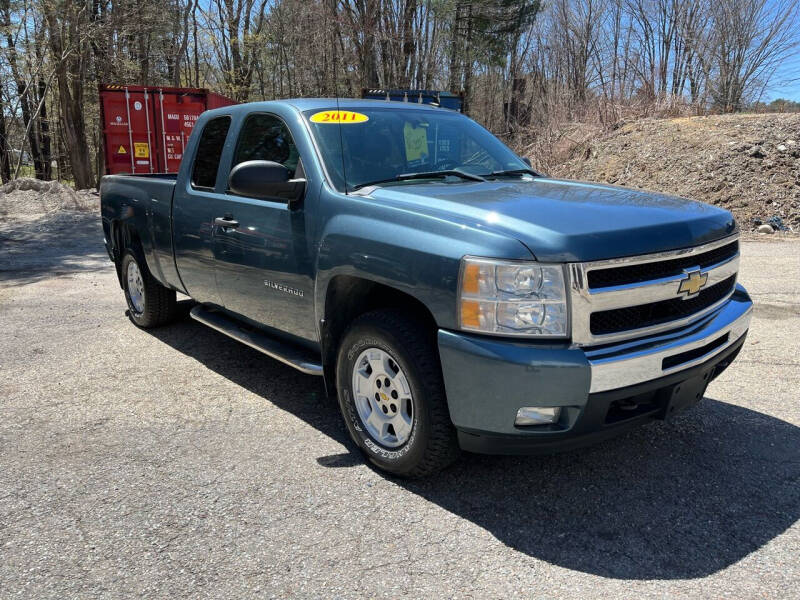
M 458 301 L 461 329 L 467 331 L 569 335 L 563 265 L 465 256 Z

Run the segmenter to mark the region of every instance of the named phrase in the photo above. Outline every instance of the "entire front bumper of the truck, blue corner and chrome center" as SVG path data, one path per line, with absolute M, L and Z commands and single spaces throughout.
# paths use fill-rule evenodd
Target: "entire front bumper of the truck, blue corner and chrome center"
M 752 301 L 737 285 L 714 313 L 679 330 L 579 348 L 439 331 L 450 417 L 461 447 L 560 451 L 671 416 L 702 397 L 744 343 Z M 517 427 L 523 406 L 559 406 L 557 423 Z

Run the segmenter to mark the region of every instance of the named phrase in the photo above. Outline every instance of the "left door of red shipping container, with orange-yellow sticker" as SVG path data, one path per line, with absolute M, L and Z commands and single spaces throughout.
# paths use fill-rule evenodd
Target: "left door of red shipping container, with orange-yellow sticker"
M 154 173 L 155 129 L 151 93 L 128 88 L 102 90 L 106 173 Z

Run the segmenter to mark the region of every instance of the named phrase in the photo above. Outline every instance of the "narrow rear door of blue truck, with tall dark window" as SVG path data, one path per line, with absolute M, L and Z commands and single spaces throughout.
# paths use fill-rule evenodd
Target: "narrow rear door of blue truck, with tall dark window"
M 189 295 L 198 302 L 222 306 L 217 292 L 214 256 L 214 217 L 224 201 L 220 160 L 231 117 L 207 121 L 200 133 L 188 176 L 178 177 L 172 202 L 175 264 Z M 219 181 L 218 181 L 219 180 Z

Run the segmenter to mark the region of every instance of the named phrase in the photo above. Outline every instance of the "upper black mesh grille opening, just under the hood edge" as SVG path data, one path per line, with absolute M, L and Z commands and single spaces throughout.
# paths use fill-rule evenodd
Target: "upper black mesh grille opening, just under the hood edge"
M 724 262 L 736 256 L 739 252 L 739 242 L 734 241 L 719 248 L 714 248 L 702 254 L 694 254 L 662 260 L 658 262 L 641 263 L 624 267 L 609 267 L 589 271 L 587 278 L 590 289 L 641 283 L 662 277 L 680 275 L 684 269 L 691 267 L 706 268 Z

